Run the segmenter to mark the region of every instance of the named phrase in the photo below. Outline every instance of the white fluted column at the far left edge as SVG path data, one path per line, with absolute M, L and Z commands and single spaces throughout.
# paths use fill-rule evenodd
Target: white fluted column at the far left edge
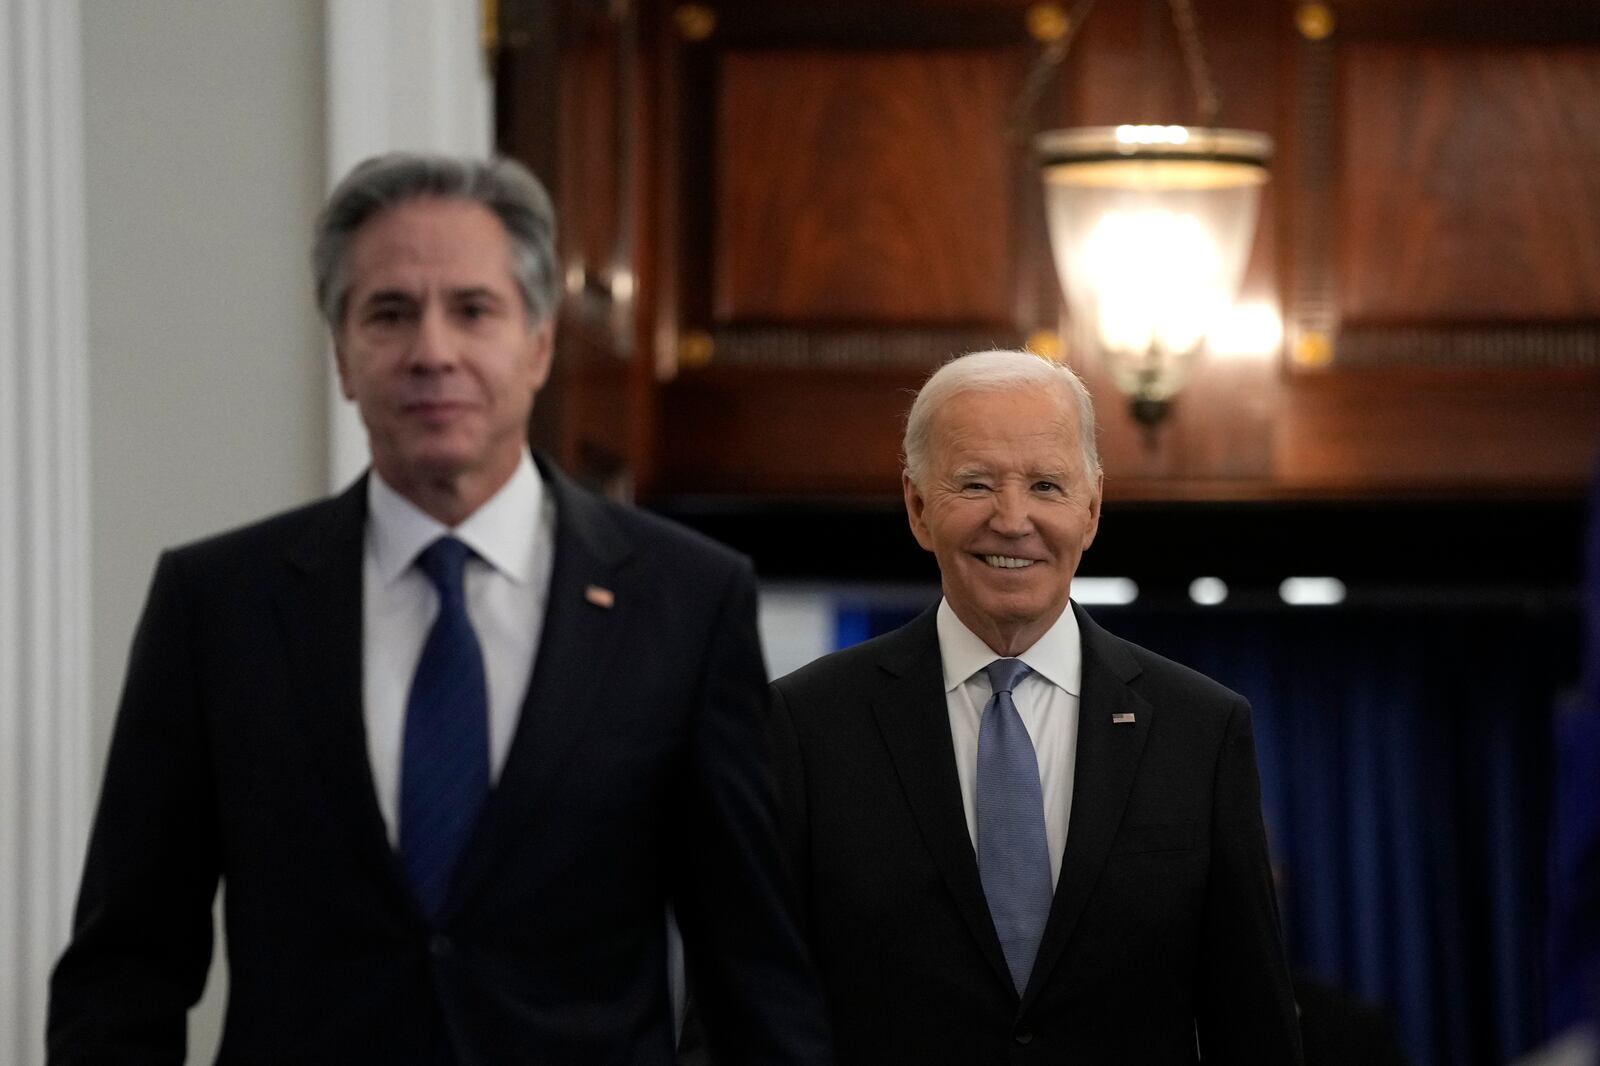
M 0 8 L 0 1061 L 45 1061 L 91 795 L 78 5 Z

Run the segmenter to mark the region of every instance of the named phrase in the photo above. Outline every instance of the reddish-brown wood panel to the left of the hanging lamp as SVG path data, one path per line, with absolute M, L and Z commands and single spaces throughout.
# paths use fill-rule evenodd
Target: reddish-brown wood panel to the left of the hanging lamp
M 1006 122 L 1040 5 L 1030 22 L 1022 3 L 725 3 L 710 34 L 685 32 L 704 22 L 686 6 L 659 35 L 662 379 L 701 354 L 690 335 L 718 367 L 869 368 L 1054 327 L 1037 176 Z

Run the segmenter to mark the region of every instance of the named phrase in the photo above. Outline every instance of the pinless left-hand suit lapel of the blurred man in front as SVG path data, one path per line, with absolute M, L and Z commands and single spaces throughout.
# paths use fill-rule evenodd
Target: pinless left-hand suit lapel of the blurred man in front
M 320 760 L 328 816 L 344 820 L 355 856 L 408 901 L 403 876 L 378 810 L 362 712 L 362 551 L 366 479 L 325 504 L 290 546 L 278 583 L 280 623 L 290 648 L 288 714 Z

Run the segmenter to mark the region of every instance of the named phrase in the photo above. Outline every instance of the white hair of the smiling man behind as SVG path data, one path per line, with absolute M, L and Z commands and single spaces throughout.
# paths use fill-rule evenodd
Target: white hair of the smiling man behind
M 928 435 L 934 413 L 958 392 L 1022 389 L 1048 386 L 1064 389 L 1077 403 L 1078 448 L 1083 451 L 1083 472 L 1099 474 L 1099 448 L 1094 447 L 1094 400 L 1083 379 L 1066 363 L 1051 362 L 1018 351 L 970 352 L 957 355 L 933 371 L 933 376 L 917 391 L 910 415 L 906 416 L 904 461 L 906 474 L 915 485 L 923 485 L 928 475 Z

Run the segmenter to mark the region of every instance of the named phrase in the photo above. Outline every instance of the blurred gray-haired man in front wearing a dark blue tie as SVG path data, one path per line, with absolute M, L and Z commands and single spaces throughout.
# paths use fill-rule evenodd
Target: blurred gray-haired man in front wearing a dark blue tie
M 162 557 L 50 1061 L 184 1060 L 219 880 L 219 1061 L 670 1063 L 669 904 L 720 1061 L 829 1061 L 750 565 L 528 451 L 544 189 L 373 158 L 314 266 L 371 469 Z

